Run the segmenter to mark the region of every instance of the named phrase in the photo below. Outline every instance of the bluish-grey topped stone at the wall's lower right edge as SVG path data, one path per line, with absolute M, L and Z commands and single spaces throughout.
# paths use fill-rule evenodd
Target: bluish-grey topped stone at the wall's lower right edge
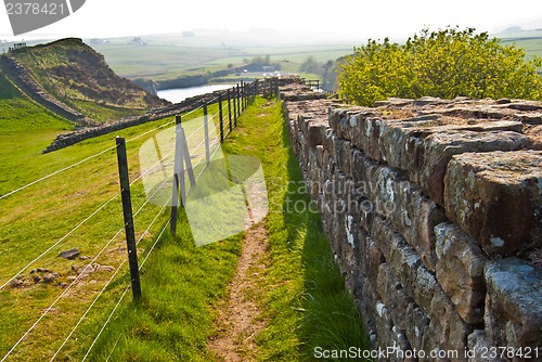
M 542 268 L 511 257 L 486 264 L 486 331 L 491 346 L 540 347 Z

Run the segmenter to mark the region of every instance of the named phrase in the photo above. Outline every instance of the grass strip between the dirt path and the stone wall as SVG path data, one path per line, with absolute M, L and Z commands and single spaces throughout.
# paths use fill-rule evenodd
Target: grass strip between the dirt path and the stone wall
M 287 134 L 281 104 L 260 100 L 225 145 L 228 152 L 260 158 L 270 199 L 270 255 L 260 285 L 269 322 L 257 337 L 260 361 L 312 361 L 315 347 L 367 346 L 320 216 L 308 207 L 310 197 Z

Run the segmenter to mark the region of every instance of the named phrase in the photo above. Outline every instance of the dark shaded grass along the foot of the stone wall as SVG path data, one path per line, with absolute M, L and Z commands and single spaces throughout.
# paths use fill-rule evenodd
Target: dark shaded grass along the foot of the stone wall
M 289 130 L 284 122 L 283 142 L 289 145 Z M 288 147 L 288 190 L 283 209 L 288 225 L 288 241 L 300 243 L 304 268 L 301 324 L 298 328 L 304 360 L 352 361 L 369 348 L 353 296 L 345 290 L 345 281 L 324 234 L 320 212 L 311 201 L 298 161 Z M 293 207 L 297 205 L 298 207 Z M 336 351 L 336 352 L 334 352 Z M 343 354 L 340 354 L 343 351 Z

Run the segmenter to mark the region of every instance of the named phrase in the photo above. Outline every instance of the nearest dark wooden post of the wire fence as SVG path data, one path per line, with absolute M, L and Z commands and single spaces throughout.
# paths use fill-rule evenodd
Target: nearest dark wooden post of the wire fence
M 128 157 L 126 155 L 126 140 L 120 137 L 117 137 L 115 140 L 117 144 L 118 177 L 120 180 L 120 195 L 122 198 L 122 215 L 125 219 L 126 245 L 128 248 L 128 262 L 130 264 L 132 296 L 136 302 L 140 302 L 141 282 L 139 277 L 136 232 L 133 229 L 133 211 L 130 196 L 130 179 L 128 174 Z

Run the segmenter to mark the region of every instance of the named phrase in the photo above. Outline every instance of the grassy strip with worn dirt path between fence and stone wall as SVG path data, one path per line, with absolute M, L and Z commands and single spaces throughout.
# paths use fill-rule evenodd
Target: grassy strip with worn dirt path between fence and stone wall
M 310 198 L 280 102 L 257 99 L 223 151 L 260 160 L 269 215 L 257 229 L 195 247 L 186 215 L 180 212 L 177 237 L 160 240 L 143 268 L 143 302 L 125 299 L 90 360 L 313 361 L 317 347 L 366 346 L 319 214 L 288 207 L 308 206 Z M 266 233 L 264 248 L 243 256 L 243 243 L 246 247 L 250 241 L 264 241 Z M 244 267 L 243 277 L 236 270 Z M 126 276 L 119 283 L 126 283 Z M 112 290 L 118 290 L 116 285 Z M 235 302 L 248 313 L 233 315 L 235 310 L 228 307 Z M 104 301 L 101 307 L 107 315 L 114 305 Z M 67 347 L 68 358 L 80 360 L 91 342 L 88 336 L 96 335 L 104 319 L 93 316 L 86 323 Z

